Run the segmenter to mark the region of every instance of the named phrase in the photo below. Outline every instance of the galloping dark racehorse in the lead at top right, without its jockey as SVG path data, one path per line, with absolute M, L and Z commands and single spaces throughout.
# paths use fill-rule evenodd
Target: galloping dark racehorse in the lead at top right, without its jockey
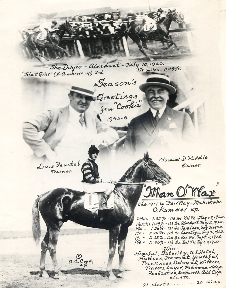
M 169 35 L 169 28 L 172 21 L 177 22 L 178 24 L 182 22 L 181 18 L 178 16 L 175 9 L 172 11 L 170 10 L 165 17 L 162 17 L 159 20 L 159 22 L 157 22 L 157 30 L 155 32 L 148 33 L 144 31 L 144 24 L 134 24 L 130 26 L 130 28 L 128 29 L 128 36 L 137 44 L 139 50 L 147 58 L 149 58 L 147 54 L 144 52 L 143 48 L 153 52 L 154 54 L 157 54 L 157 52 L 147 47 L 147 39 L 170 43 L 169 46 L 163 47 L 162 49 L 169 49 L 170 46 L 172 46 L 173 44 L 176 46 L 176 43 L 174 41 L 167 38 Z M 125 32 L 122 34 L 124 34 L 122 36 L 126 36 Z M 117 40 L 119 39 L 120 36 L 118 37 Z M 177 50 L 179 50 L 179 48 L 177 48 Z M 152 58 L 149 59 L 153 61 Z

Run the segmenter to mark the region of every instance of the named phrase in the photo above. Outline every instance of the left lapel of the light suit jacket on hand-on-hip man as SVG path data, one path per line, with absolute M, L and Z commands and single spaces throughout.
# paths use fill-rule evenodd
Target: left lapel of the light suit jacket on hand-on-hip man
M 55 139 L 54 139 L 54 147 L 56 147 L 56 145 L 63 138 L 63 136 L 66 132 L 66 129 L 67 129 L 68 120 L 69 120 L 69 106 L 60 109 L 58 121 L 56 124 L 56 134 L 55 134 Z

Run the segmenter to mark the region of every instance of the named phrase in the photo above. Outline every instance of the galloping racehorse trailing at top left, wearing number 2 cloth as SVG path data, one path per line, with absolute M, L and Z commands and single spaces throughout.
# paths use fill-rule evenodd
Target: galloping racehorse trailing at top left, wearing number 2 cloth
M 36 33 L 30 34 L 26 38 L 25 43 L 29 48 L 31 48 L 31 50 L 33 50 L 35 57 L 42 64 L 45 64 L 45 63 L 43 62 L 41 57 L 43 57 L 45 60 L 48 60 L 42 54 L 43 48 L 54 48 L 57 51 L 62 51 L 62 54 L 60 56 L 57 56 L 56 59 L 62 58 L 64 53 L 66 53 L 68 57 L 71 57 L 71 55 L 67 52 L 66 49 L 60 47 L 60 42 L 65 32 L 68 32 L 71 35 L 74 34 L 72 26 L 67 21 L 59 26 L 58 30 L 56 30 L 56 34 L 54 34 L 55 32 L 48 33 L 48 36 L 46 38 L 46 40 L 48 40 L 47 42 L 44 43 L 43 40 L 37 39 L 39 32 L 36 32 Z

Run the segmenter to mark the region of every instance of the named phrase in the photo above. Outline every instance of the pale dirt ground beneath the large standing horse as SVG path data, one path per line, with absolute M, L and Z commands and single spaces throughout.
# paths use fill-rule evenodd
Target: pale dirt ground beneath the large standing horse
M 0 287 L 127 287 L 128 283 L 131 281 L 134 283 L 138 276 L 136 275 L 138 272 L 135 270 L 135 259 L 132 255 L 132 251 L 136 249 L 134 246 L 134 238 L 134 232 L 129 231 L 124 257 L 126 279 L 117 278 L 114 281 L 108 279 L 106 272 L 109 243 L 108 231 L 106 231 L 106 233 L 59 236 L 56 256 L 62 272 L 66 275 L 64 280 L 54 278 L 55 273 L 48 251 L 46 256 L 46 270 L 50 278 L 44 279 L 40 277 L 39 261 L 41 246 L 36 247 L 32 238 L 1 239 Z M 134 249 L 131 250 L 130 246 Z M 84 264 L 81 266 L 81 259 L 83 259 L 83 261 L 88 260 L 89 262 L 85 268 Z M 69 260 L 72 260 L 71 264 L 69 264 Z M 118 273 L 118 270 L 115 269 L 118 268 L 117 251 L 113 260 L 113 268 L 113 272 L 116 275 Z

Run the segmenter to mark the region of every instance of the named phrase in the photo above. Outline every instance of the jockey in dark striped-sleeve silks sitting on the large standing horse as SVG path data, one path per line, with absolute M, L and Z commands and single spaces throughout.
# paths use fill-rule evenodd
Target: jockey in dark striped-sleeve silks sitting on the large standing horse
M 88 151 L 89 159 L 82 165 L 83 191 L 86 193 L 104 192 L 99 210 L 113 210 L 113 208 L 107 207 L 107 200 L 113 192 L 115 185 L 111 181 L 104 181 L 99 177 L 98 166 L 95 163 L 99 152 L 94 145 L 91 145 Z

